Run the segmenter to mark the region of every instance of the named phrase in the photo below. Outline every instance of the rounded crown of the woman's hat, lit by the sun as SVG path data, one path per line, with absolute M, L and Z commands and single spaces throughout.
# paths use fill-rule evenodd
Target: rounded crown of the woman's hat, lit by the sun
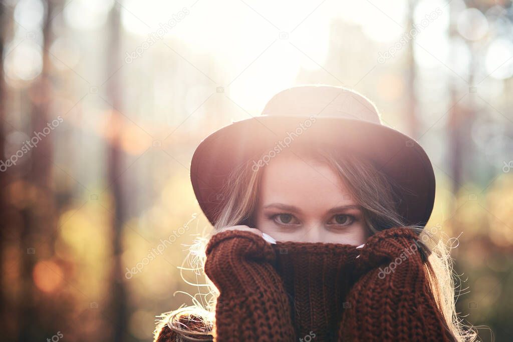
M 369 99 L 335 86 L 307 85 L 283 90 L 267 102 L 262 115 L 340 117 L 381 124 L 378 110 Z

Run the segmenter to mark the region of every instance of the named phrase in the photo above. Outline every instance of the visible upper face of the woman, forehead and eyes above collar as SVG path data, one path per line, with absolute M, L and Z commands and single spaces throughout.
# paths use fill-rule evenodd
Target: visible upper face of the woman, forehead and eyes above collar
M 361 245 L 363 212 L 330 167 L 293 154 L 263 170 L 256 225 L 278 241 Z

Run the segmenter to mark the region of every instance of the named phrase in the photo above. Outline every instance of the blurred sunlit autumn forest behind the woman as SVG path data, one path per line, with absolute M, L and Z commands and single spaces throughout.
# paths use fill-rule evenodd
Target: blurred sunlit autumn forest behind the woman
M 362 92 L 425 148 L 458 311 L 510 340 L 511 2 L 4 0 L 0 15 L 2 340 L 151 340 L 156 315 L 192 304 L 176 291 L 201 291 L 179 270 L 211 229 L 194 148 L 315 83 Z

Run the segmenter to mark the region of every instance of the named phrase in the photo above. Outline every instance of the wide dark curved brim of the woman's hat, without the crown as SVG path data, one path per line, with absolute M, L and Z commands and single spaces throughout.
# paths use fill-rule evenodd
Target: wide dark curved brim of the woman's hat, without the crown
M 250 160 L 258 161 L 254 158 L 270 152 L 289 136 L 290 146 L 297 140 L 327 144 L 372 160 L 399 186 L 398 210 L 405 223 L 425 226 L 435 200 L 435 174 L 415 139 L 358 119 L 315 117 L 306 127 L 308 120 L 303 116 L 261 115 L 234 122 L 202 140 L 192 156 L 190 177 L 198 203 L 212 225 L 224 203 L 222 190 L 230 172 Z

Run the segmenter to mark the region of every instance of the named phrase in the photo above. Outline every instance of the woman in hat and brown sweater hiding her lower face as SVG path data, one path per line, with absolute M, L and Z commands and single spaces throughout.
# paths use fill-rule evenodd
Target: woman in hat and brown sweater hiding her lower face
M 174 312 L 155 340 L 475 339 L 424 228 L 429 159 L 364 96 L 284 90 L 203 140 L 191 181 L 215 228 L 204 265 L 215 312 Z

